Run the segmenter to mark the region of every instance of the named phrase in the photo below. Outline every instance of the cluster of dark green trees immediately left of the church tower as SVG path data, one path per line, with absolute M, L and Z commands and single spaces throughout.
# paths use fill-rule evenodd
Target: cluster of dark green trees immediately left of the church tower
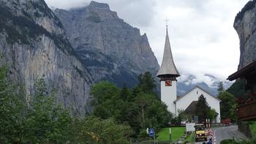
M 91 88 L 94 96 L 93 114 L 99 118 L 114 118 L 120 124 L 129 124 L 135 132 L 147 127 L 159 129 L 170 122 L 167 106 L 154 94 L 154 78 L 149 72 L 139 76 L 140 84 L 129 90 L 110 82 L 100 82 Z

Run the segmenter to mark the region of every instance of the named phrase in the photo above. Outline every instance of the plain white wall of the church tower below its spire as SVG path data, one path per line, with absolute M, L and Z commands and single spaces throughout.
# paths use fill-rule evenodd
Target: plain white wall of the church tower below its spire
M 161 81 L 161 101 L 165 102 L 168 110 L 176 115 L 176 105 L 174 101 L 176 100 L 176 80 L 172 81 L 172 86 L 165 86 L 165 81 Z

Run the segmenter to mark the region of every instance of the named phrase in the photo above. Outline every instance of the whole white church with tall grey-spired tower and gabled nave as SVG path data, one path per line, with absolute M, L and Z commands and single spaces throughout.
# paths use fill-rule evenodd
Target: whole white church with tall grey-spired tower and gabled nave
M 209 94 L 203 88 L 196 86 L 192 90 L 188 91 L 184 96 L 177 96 L 176 92 L 176 77 L 181 76 L 176 68 L 172 51 L 170 49 L 170 40 L 168 36 L 167 26 L 166 26 L 166 37 L 165 37 L 165 50 L 164 56 L 162 58 L 162 64 L 157 72 L 157 77 L 160 78 L 161 82 L 161 101 L 165 102 L 168 110 L 173 113 L 173 115 L 178 116 L 178 110 L 192 111 L 192 107 L 196 105 L 198 97 L 203 95 L 206 97 L 206 102 L 208 105 L 216 110 L 216 118 L 214 118 L 213 123 L 220 123 L 220 107 L 221 102 L 215 96 Z M 195 108 L 194 108 L 195 109 Z

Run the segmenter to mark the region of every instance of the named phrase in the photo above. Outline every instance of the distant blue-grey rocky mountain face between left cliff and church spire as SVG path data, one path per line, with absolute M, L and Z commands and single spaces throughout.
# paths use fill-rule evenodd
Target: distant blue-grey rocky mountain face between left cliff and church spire
M 139 29 L 118 18 L 108 4 L 91 1 L 87 7 L 55 14 L 94 81 L 107 79 L 132 87 L 140 73 L 157 73 L 159 65 L 146 34 L 141 36 Z

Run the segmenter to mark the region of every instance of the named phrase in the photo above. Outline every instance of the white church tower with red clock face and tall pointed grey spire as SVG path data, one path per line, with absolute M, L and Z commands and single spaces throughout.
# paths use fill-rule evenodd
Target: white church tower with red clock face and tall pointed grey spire
M 176 113 L 176 105 L 174 101 L 177 97 L 176 77 L 179 76 L 180 75 L 173 61 L 172 51 L 170 50 L 170 41 L 166 26 L 164 56 L 162 58 L 162 65 L 157 72 L 157 77 L 160 77 L 161 82 L 161 100 L 162 102 L 165 102 L 168 110 L 174 115 L 178 114 Z

